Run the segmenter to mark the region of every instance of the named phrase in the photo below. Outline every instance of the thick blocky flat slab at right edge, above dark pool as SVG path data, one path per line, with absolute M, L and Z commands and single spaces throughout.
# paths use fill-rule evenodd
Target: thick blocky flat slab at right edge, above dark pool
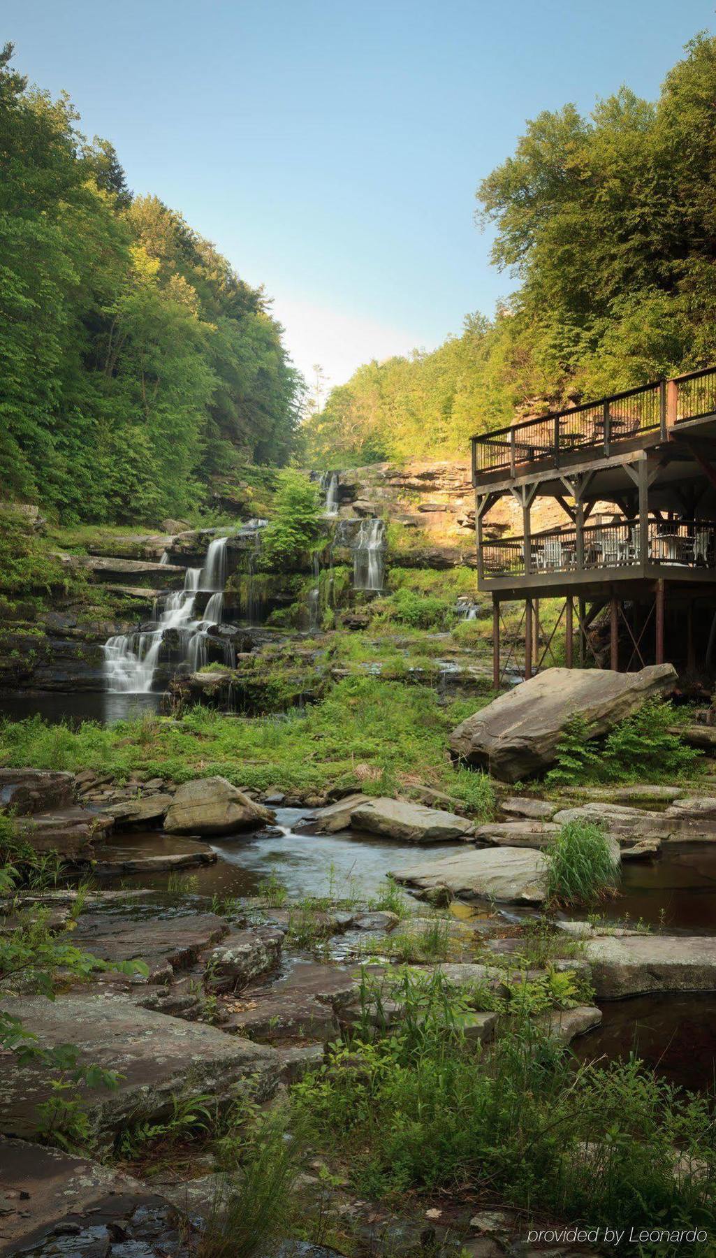
M 588 936 L 583 955 L 603 1000 L 652 991 L 716 991 L 716 938 L 710 936 Z

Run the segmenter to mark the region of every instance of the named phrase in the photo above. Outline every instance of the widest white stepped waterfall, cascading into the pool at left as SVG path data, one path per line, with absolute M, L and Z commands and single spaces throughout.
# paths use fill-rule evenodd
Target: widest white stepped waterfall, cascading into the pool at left
M 196 672 L 206 663 L 208 630 L 221 620 L 227 584 L 227 538 L 214 537 L 203 567 L 187 567 L 184 589 L 166 595 L 156 629 L 117 634 L 104 643 L 104 678 L 115 694 L 147 694 L 169 629 L 179 635 L 181 663 Z M 210 593 L 204 615 L 195 619 L 196 595 Z

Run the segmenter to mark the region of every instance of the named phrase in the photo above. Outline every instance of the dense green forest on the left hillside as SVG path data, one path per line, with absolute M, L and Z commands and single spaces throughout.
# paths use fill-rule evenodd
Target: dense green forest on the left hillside
M 214 473 L 283 463 L 301 379 L 262 292 L 69 99 L 0 53 L 3 492 L 65 521 L 200 506 Z

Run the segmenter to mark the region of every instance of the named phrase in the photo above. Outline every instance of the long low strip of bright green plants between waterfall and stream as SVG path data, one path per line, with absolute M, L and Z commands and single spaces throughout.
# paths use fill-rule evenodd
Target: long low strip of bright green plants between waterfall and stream
M 316 790 L 360 785 L 394 794 L 401 782 L 444 789 L 487 818 L 489 779 L 456 769 L 445 737 L 462 712 L 442 707 L 434 691 L 372 677 L 350 677 L 305 712 L 227 721 L 195 707 L 180 720 L 145 715 L 113 726 L 78 728 L 39 717 L 0 722 L 0 764 L 36 769 L 133 772 L 175 781 L 223 774 L 237 786 Z

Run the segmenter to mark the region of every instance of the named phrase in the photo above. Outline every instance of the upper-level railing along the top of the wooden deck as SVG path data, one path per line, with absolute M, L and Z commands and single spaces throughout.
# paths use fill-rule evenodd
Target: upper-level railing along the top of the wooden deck
M 515 476 L 526 464 L 560 462 L 579 450 L 609 452 L 642 433 L 716 414 L 716 367 L 691 371 L 673 380 L 657 380 L 638 389 L 610 394 L 598 401 L 550 411 L 472 438 L 472 479 L 483 472 Z

